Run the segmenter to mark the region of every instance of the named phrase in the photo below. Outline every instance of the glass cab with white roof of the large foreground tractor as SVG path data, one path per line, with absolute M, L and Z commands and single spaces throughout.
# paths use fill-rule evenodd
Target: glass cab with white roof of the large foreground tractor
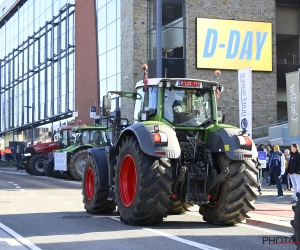
M 218 121 L 215 92 L 223 87 L 215 81 L 193 79 L 148 79 L 136 84 L 134 119 L 161 121 L 176 127 L 199 127 Z

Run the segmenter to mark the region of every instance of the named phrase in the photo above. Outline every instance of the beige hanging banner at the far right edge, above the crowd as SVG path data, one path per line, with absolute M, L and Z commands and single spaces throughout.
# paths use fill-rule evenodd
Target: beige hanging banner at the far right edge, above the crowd
M 299 85 L 300 71 L 285 74 L 286 78 L 286 95 L 287 95 L 287 112 L 289 120 L 290 136 L 299 136 Z

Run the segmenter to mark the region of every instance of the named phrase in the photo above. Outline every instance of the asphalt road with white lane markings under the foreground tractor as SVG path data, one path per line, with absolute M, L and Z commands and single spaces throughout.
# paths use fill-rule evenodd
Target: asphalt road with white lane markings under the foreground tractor
M 0 250 L 296 249 L 273 244 L 289 236 L 245 224 L 213 226 L 197 207 L 158 226 L 127 226 L 117 213 L 87 214 L 80 182 L 0 170 Z

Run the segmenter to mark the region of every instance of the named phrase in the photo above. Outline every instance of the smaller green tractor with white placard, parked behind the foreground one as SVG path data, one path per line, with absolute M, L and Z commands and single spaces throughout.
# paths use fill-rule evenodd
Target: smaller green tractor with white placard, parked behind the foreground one
M 61 149 L 48 154 L 48 162 L 44 169 L 46 175 L 56 178 L 82 180 L 83 164 L 86 160 L 87 149 L 111 145 L 105 126 L 73 128 L 71 138 L 68 136 L 60 138 Z M 64 145 L 70 146 L 65 147 Z

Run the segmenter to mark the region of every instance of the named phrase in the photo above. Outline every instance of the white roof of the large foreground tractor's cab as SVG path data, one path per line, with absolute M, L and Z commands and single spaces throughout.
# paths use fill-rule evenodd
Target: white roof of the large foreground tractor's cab
M 178 81 L 184 81 L 184 82 L 201 82 L 202 84 L 200 86 L 208 88 L 208 87 L 212 87 L 212 86 L 217 86 L 218 83 L 216 81 L 208 81 L 208 80 L 201 80 L 201 79 L 191 79 L 191 78 L 149 78 L 148 79 L 148 86 L 156 86 L 158 85 L 160 82 L 170 82 L 171 85 L 176 85 L 176 83 L 178 83 Z M 136 83 L 135 88 L 138 87 L 143 87 L 144 86 L 144 82 L 143 80 L 139 81 Z M 181 86 L 183 87 L 183 86 Z M 187 87 L 187 85 L 185 85 L 184 87 Z M 201 87 L 200 87 L 201 88 Z

